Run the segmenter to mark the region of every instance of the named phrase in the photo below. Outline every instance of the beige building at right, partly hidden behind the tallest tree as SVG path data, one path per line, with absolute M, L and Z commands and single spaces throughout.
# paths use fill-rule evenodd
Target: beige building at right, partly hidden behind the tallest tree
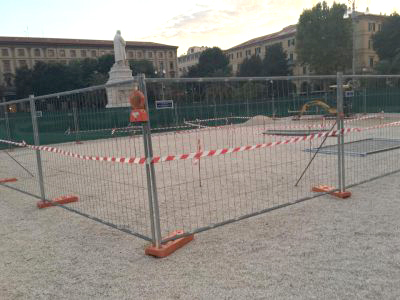
M 355 44 L 355 71 L 357 74 L 370 73 L 379 61 L 378 55 L 373 50 L 372 36 L 382 27 L 385 16 L 356 13 L 354 19 L 354 44 Z M 281 31 L 268 34 L 262 37 L 251 39 L 247 42 L 225 50 L 229 57 L 233 74 L 237 74 L 240 64 L 246 57 L 259 55 L 264 58 L 267 48 L 273 44 L 282 45 L 286 52 L 289 66 L 294 76 L 307 75 L 312 73 L 308 66 L 303 66 L 297 60 L 296 54 L 296 26 L 290 25 Z M 348 72 L 351 73 L 352 66 Z

